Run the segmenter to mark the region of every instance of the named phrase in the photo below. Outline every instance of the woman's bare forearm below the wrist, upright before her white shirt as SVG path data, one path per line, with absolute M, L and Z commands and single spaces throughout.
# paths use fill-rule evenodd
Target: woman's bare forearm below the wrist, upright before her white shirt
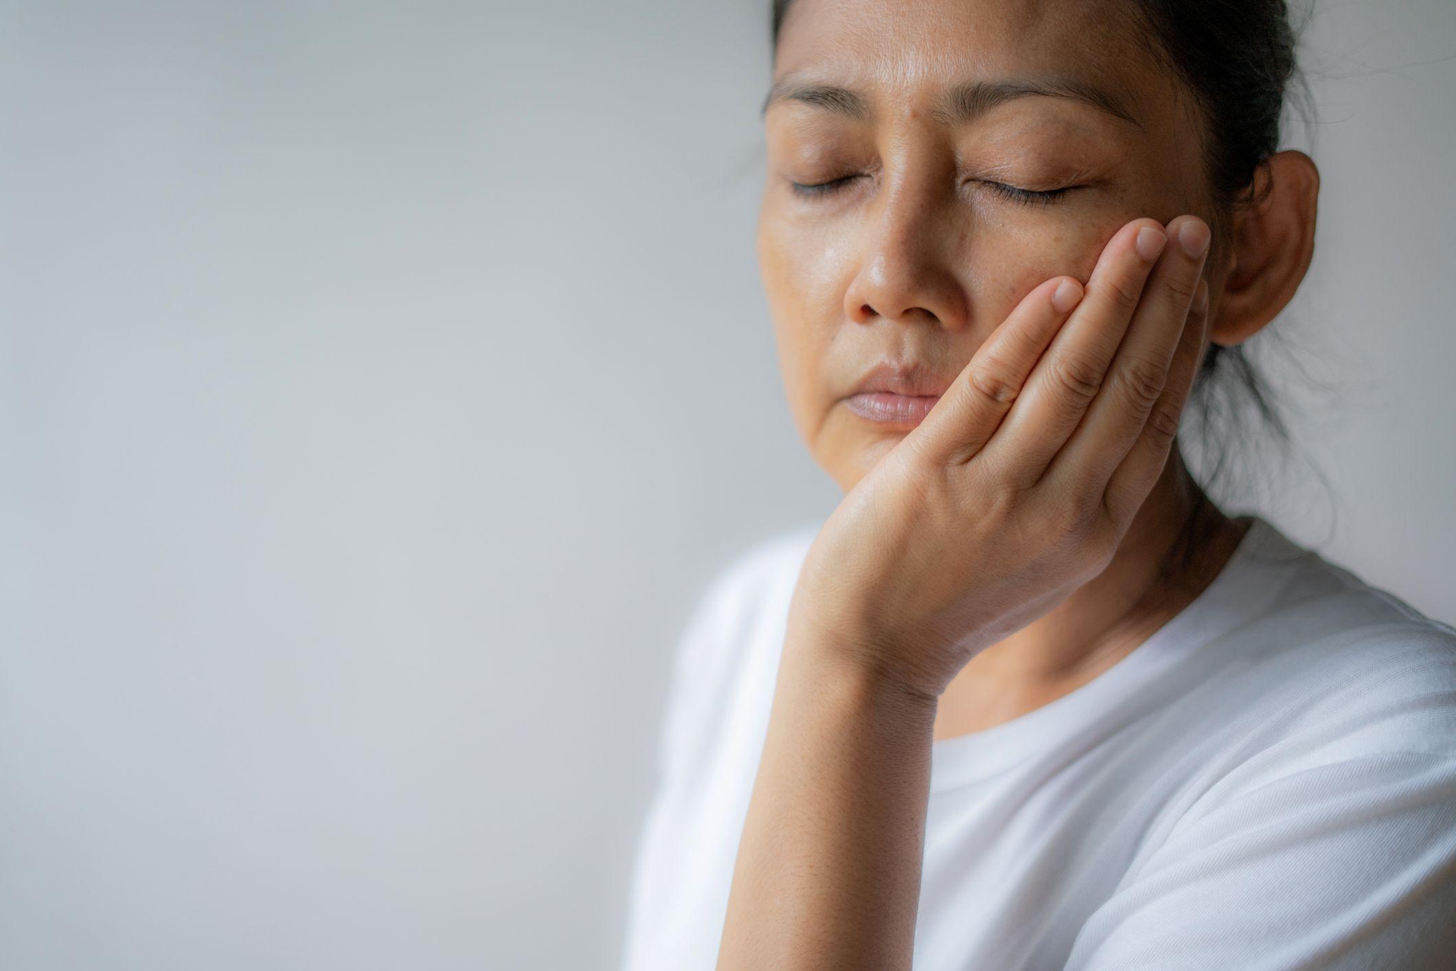
M 719 971 L 910 968 L 935 709 L 791 627 Z

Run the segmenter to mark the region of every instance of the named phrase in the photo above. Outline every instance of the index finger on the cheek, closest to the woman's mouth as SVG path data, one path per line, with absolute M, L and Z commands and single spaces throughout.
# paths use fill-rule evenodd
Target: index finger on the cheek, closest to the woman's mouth
M 980 451 L 1082 293 L 1075 277 L 1053 277 L 1022 297 L 910 431 L 906 440 L 914 441 L 907 447 L 941 464 Z

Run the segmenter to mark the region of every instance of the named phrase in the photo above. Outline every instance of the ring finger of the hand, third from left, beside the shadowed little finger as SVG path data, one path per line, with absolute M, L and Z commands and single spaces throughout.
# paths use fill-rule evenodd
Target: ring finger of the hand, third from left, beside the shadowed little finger
M 1163 393 L 1211 233 L 1197 215 L 1179 215 L 1168 224 L 1168 236 L 1172 242 L 1143 287 L 1143 298 L 1102 387 L 1082 424 L 1047 466 L 1048 482 L 1095 488 L 1102 495 Z

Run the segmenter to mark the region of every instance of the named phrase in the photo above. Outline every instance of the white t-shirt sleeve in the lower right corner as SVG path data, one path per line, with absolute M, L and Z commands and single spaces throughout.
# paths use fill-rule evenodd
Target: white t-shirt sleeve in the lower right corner
M 1404 689 L 1350 684 L 1299 757 L 1179 820 L 1067 971 L 1456 968 L 1456 642 L 1425 657 Z

